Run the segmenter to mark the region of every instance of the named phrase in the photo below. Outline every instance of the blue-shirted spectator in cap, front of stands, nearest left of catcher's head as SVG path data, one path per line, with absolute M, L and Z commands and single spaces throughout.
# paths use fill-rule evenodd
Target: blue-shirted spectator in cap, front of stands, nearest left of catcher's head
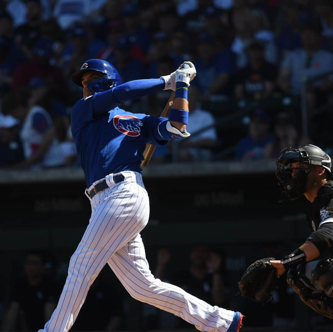
M 274 135 L 269 131 L 270 123 L 267 113 L 255 110 L 249 123 L 249 134 L 241 139 L 235 151 L 237 161 L 261 160 L 267 158 L 267 146 L 274 142 Z

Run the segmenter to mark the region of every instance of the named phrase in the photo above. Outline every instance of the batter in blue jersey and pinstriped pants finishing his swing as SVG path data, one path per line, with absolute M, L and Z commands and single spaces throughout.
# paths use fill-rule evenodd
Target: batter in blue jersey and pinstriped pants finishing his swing
M 149 198 L 140 163 L 146 143 L 186 138 L 187 89 L 196 74 L 191 62 L 158 79 L 122 84 L 117 69 L 91 59 L 71 76 L 83 87 L 72 109 L 72 134 L 85 173 L 92 214 L 69 262 L 57 308 L 41 331 L 68 331 L 94 282 L 109 264 L 139 301 L 193 324 L 199 331 L 238 331 L 242 315 L 208 303 L 156 279 L 149 270 L 140 231 L 149 219 Z M 126 112 L 119 106 L 159 90 L 175 90 L 168 118 Z M 92 319 L 94 319 L 92 317 Z

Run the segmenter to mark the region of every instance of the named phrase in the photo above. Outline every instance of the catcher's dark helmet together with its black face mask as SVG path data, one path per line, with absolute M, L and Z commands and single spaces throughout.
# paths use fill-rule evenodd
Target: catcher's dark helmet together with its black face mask
M 300 163 L 300 165 L 299 172 L 293 178 L 291 163 L 295 162 Z M 306 164 L 307 166 L 304 166 Z M 277 171 L 275 174 L 279 180 L 278 184 L 282 192 L 282 200 L 287 197 L 294 200 L 304 193 L 311 165 L 323 166 L 329 177 L 333 178 L 330 156 L 312 144 L 283 149 L 276 161 L 276 165 Z

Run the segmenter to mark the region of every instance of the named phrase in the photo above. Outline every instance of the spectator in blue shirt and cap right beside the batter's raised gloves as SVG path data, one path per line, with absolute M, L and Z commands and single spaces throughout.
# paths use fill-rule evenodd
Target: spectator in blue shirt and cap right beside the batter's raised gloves
M 196 51 L 197 77 L 192 84 L 199 87 L 202 99 L 207 100 L 216 94 L 229 96 L 229 78 L 236 68 L 234 54 L 229 49 L 216 53 L 214 39 L 208 33 L 198 35 Z

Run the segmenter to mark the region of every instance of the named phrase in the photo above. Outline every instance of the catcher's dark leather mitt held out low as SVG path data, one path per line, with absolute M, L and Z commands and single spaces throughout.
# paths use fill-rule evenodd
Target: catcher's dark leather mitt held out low
M 275 258 L 266 257 L 255 261 L 238 282 L 240 294 L 253 301 L 266 303 L 272 298 L 276 285 L 276 269 L 269 263 Z

